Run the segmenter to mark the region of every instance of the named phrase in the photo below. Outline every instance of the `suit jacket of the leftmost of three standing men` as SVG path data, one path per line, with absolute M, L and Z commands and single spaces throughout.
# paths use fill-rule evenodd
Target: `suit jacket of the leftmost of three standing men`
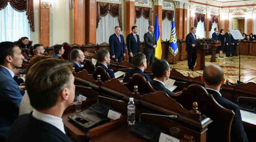
M 110 48 L 110 56 L 115 55 L 116 57 L 123 56 L 126 53 L 124 36 L 119 34 L 121 38 L 121 43 L 116 34 L 112 34 L 109 37 L 108 43 Z

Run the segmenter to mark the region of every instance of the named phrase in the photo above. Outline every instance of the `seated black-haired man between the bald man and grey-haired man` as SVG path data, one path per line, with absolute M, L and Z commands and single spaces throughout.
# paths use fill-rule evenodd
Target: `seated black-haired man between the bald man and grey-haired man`
M 171 71 L 172 69 L 164 59 L 156 60 L 152 64 L 152 72 L 155 78 L 150 82 L 151 86 L 156 89 L 156 91 L 164 91 L 169 96 L 174 93 L 165 88 L 164 82 L 170 77 Z

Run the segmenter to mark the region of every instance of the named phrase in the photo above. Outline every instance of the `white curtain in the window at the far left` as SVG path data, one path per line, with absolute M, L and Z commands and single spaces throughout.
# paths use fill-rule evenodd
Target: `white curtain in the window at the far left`
M 15 11 L 10 2 L 0 10 L 0 42 L 2 41 L 18 41 L 21 37 L 30 39 L 30 26 L 26 11 Z

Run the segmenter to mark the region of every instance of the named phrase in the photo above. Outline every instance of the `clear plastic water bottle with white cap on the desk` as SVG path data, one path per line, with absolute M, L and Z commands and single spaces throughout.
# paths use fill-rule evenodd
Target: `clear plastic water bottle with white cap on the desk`
M 129 98 L 129 102 L 128 102 L 128 105 L 127 105 L 127 115 L 128 115 L 128 118 L 127 118 L 127 122 L 128 122 L 128 125 L 134 125 L 135 124 L 135 105 L 134 105 L 134 102 L 133 102 L 133 98 Z

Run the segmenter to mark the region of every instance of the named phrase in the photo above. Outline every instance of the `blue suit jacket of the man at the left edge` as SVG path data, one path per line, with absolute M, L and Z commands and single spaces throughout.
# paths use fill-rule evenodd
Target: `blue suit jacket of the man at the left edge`
M 0 137 L 6 136 L 13 121 L 18 118 L 24 93 L 22 94 L 10 72 L 0 66 Z

